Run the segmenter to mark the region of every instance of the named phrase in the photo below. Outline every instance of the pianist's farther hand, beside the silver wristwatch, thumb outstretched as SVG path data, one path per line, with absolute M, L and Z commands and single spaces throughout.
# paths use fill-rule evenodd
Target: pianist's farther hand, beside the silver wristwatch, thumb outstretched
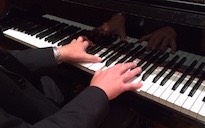
M 79 36 L 73 39 L 71 43 L 58 48 L 60 59 L 63 62 L 100 62 L 101 58 L 86 53 L 86 49 L 91 42 L 86 38 Z

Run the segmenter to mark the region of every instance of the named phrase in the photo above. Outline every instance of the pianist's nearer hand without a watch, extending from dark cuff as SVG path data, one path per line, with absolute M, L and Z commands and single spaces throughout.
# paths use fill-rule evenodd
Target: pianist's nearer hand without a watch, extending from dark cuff
M 90 85 L 101 88 L 109 100 L 114 99 L 121 93 L 129 90 L 139 89 L 141 82 L 130 83 L 129 81 L 141 73 L 141 68 L 135 63 L 117 64 L 104 71 L 95 72 Z

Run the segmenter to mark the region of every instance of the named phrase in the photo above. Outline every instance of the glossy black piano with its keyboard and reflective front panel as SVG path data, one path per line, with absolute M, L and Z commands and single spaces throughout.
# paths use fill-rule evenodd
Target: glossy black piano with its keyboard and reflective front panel
M 205 2 L 203 0 L 12 0 L 1 19 L 3 36 L 31 48 L 60 47 L 84 35 L 96 45 L 88 52 L 102 63 L 75 66 L 93 74 L 117 63 L 135 61 L 143 72 L 140 90 L 125 94 L 124 102 L 169 127 L 205 127 Z M 127 18 L 127 42 L 96 38 L 95 27 L 114 13 Z M 160 28 L 176 30 L 177 51 L 146 51 L 138 40 Z M 165 34 L 166 35 L 166 34 Z M 160 116 L 159 116 L 160 115 Z

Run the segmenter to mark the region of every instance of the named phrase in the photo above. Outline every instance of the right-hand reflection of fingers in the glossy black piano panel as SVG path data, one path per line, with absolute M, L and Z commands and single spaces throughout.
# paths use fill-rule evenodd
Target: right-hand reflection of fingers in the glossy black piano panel
M 170 26 L 163 27 L 143 36 L 139 42 L 142 41 L 148 41 L 147 50 L 156 50 L 159 48 L 165 51 L 170 46 L 172 53 L 176 52 L 176 31 Z

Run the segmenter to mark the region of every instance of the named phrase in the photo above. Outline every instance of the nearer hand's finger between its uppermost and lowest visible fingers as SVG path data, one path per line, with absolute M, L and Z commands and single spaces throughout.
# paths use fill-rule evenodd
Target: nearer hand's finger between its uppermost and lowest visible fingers
M 134 77 L 136 77 L 136 75 L 140 74 L 142 72 L 142 69 L 140 67 L 136 67 L 132 70 L 128 70 L 127 72 L 125 72 L 122 77 L 123 77 L 123 81 L 124 82 L 128 82 L 131 79 L 133 79 Z

